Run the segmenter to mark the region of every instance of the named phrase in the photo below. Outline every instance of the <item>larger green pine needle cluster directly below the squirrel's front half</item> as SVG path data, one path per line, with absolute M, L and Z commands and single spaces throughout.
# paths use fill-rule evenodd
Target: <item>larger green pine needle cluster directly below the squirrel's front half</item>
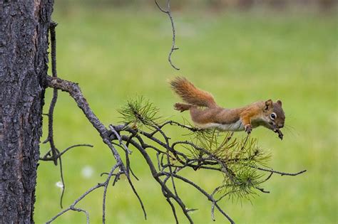
M 249 136 L 242 139 L 233 138 L 232 132 L 219 132 L 215 129 L 206 132 L 196 132 L 193 139 L 199 150 L 192 148 L 193 155 L 216 162 L 223 171 L 222 186 L 218 193 L 222 197 L 229 196 L 232 200 L 257 195 L 257 188 L 265 181 L 255 167 L 267 166 L 271 154 L 263 151 L 257 144 L 257 139 Z M 204 160 L 203 159 L 203 160 Z

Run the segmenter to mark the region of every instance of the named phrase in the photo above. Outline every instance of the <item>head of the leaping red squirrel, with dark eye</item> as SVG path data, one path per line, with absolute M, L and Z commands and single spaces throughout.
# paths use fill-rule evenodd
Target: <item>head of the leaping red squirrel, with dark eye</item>
M 284 127 L 285 114 L 282 109 L 282 101 L 272 102 L 272 100 L 265 101 L 263 109 L 265 119 L 267 121 L 267 128 L 276 130 Z

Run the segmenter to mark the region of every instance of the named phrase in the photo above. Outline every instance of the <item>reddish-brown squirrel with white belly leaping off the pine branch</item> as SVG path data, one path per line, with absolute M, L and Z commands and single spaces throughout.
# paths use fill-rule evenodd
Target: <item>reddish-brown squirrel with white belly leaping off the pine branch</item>
M 191 119 L 200 129 L 216 128 L 221 131 L 245 131 L 250 134 L 253 128 L 263 126 L 283 139 L 280 129 L 284 127 L 285 113 L 280 100 L 259 101 L 245 107 L 225 109 L 216 104 L 209 92 L 198 89 L 186 78 L 177 77 L 170 85 L 186 102 L 176 103 L 174 109 L 180 112 L 190 110 Z

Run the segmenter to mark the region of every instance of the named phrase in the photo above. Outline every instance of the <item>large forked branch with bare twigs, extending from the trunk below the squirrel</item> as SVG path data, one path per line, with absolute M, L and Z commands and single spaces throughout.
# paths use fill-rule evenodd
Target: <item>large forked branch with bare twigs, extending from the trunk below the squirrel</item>
M 214 210 L 215 208 L 217 208 L 217 210 L 219 210 L 220 213 L 224 215 L 225 218 L 227 218 L 227 220 L 229 220 L 230 223 L 234 223 L 232 218 L 230 218 L 230 216 L 227 215 L 227 213 L 225 213 L 225 211 L 222 210 L 222 208 L 218 204 L 223 198 L 226 198 L 225 196 L 228 196 L 232 192 L 223 193 L 220 196 L 220 198 L 218 199 L 215 198 L 215 193 L 219 193 L 221 188 L 226 188 L 227 186 L 221 186 L 221 187 L 218 186 L 215 188 L 215 191 L 212 191 L 212 193 L 208 193 L 203 188 L 201 188 L 198 185 L 198 183 L 194 183 L 193 181 L 190 181 L 188 177 L 180 175 L 180 171 L 182 171 L 183 169 L 190 168 L 195 171 L 198 171 L 200 169 L 208 169 L 210 171 L 222 172 L 223 174 L 225 174 L 225 176 L 227 176 L 227 178 L 230 179 L 232 184 L 235 184 L 235 185 L 240 184 L 237 181 L 236 174 L 233 171 L 231 171 L 229 164 L 227 164 L 227 160 L 217 158 L 217 156 L 215 156 L 215 154 L 212 154 L 211 151 L 208 151 L 207 149 L 203 149 L 200 146 L 194 144 L 193 142 L 176 141 L 176 142 L 170 143 L 172 138 L 168 137 L 168 135 L 165 134 L 165 131 L 163 130 L 165 129 L 167 125 L 172 125 L 173 127 L 177 127 L 179 129 L 187 129 L 190 132 L 196 132 L 198 131 L 197 129 L 187 127 L 183 124 L 179 124 L 178 122 L 173 122 L 173 121 L 164 122 L 163 124 L 156 124 L 155 122 L 153 123 L 147 122 L 145 121 L 145 119 L 141 119 L 141 118 L 140 120 L 145 122 L 148 125 L 148 127 L 150 127 L 153 130 L 150 129 L 150 132 L 145 132 L 144 130 L 132 128 L 133 125 L 131 125 L 130 127 L 126 124 L 117 125 L 117 126 L 114 126 L 113 124 L 111 124 L 109 125 L 109 129 L 107 129 L 100 122 L 98 117 L 96 117 L 96 115 L 92 112 L 91 108 L 88 105 L 88 102 L 82 95 L 80 87 L 78 87 L 76 83 L 69 82 L 66 80 L 61 80 L 60 78 L 53 78 L 53 77 L 48 76 L 46 78 L 46 84 L 48 85 L 48 87 L 53 87 L 58 90 L 66 91 L 71 95 L 71 97 L 73 97 L 78 107 L 80 107 L 83 113 L 86 115 L 88 121 L 91 122 L 91 124 L 93 125 L 93 127 L 96 128 L 96 130 L 98 130 L 101 138 L 103 139 L 103 142 L 105 142 L 108 145 L 108 147 L 111 149 L 113 156 L 116 158 L 116 162 L 117 162 L 116 165 L 113 166 L 113 169 L 111 169 L 111 172 L 108 173 L 108 177 L 106 178 L 105 182 L 99 183 L 97 186 L 94 186 L 93 188 L 89 189 L 86 193 L 83 194 L 83 196 L 81 196 L 76 201 L 74 201 L 74 203 L 71 206 L 69 206 L 68 208 L 63 210 L 61 213 L 58 213 L 58 215 L 56 215 L 54 218 L 52 218 L 50 222 L 68 210 L 79 210 L 79 209 L 75 209 L 74 207 L 76 206 L 76 203 L 78 203 L 78 201 L 81 201 L 81 199 L 84 198 L 84 196 L 86 196 L 88 193 L 95 190 L 96 188 L 103 187 L 104 188 L 103 223 L 105 223 L 106 222 L 106 191 L 108 189 L 108 183 L 111 179 L 111 176 L 115 176 L 113 183 L 116 183 L 116 181 L 118 181 L 119 176 L 121 174 L 126 175 L 128 179 L 128 183 L 130 187 L 132 188 L 133 192 L 135 193 L 135 196 L 137 196 L 140 202 L 141 208 L 143 210 L 143 213 L 145 215 L 145 218 L 146 218 L 146 213 L 145 213 L 145 208 L 143 206 L 143 202 L 138 196 L 138 193 L 135 191 L 135 188 L 133 187 L 133 182 L 131 181 L 130 175 L 129 175 L 129 171 L 130 171 L 129 156 L 131 152 L 130 146 L 133 146 L 135 149 L 140 151 L 140 154 L 142 154 L 143 158 L 145 159 L 146 164 L 148 164 L 148 167 L 150 169 L 150 172 L 153 178 L 155 179 L 155 181 L 159 183 L 160 188 L 162 189 L 162 192 L 163 192 L 163 196 L 165 197 L 166 201 L 170 205 L 170 208 L 172 208 L 176 223 L 178 223 L 179 221 L 178 221 L 177 210 L 175 210 L 175 206 L 173 204 L 174 202 L 178 204 L 183 214 L 185 215 L 185 217 L 188 219 L 190 223 L 193 223 L 193 219 L 190 216 L 191 209 L 187 209 L 188 206 L 185 205 L 182 196 L 180 196 L 180 194 L 178 193 L 176 189 L 175 179 L 183 181 L 184 183 L 188 184 L 188 186 L 192 186 L 197 191 L 202 193 L 208 199 L 208 201 L 211 202 L 212 220 L 215 220 Z M 139 114 L 135 114 L 135 116 L 140 117 Z M 231 136 L 232 135 L 230 135 L 230 137 L 226 137 L 225 141 L 223 141 L 224 144 L 227 144 L 227 142 L 230 141 Z M 153 142 L 153 144 L 146 144 L 143 139 L 148 139 L 147 142 L 150 141 L 150 142 Z M 242 142 L 243 143 L 240 144 L 241 151 L 247 148 L 246 145 L 249 144 L 250 141 L 248 141 L 248 139 L 244 139 Z M 123 149 L 126 152 L 126 161 L 128 161 L 128 165 L 123 164 L 121 156 L 118 154 L 118 151 L 115 149 L 113 144 L 121 147 L 121 149 Z M 200 153 L 205 154 L 205 156 L 196 158 L 195 156 L 191 156 L 191 155 L 183 153 L 182 151 L 180 151 L 180 149 L 182 149 L 182 146 L 184 145 L 191 146 L 194 150 L 200 151 Z M 176 149 L 176 148 L 180 148 L 180 149 Z M 148 151 L 149 149 L 152 149 L 153 151 L 156 152 L 157 156 L 156 156 L 155 161 L 150 159 L 149 151 Z M 58 154 L 58 157 L 61 156 L 67 150 L 68 149 L 63 151 L 61 154 Z M 45 159 L 45 160 L 52 160 L 52 159 Z M 177 162 L 173 163 L 172 162 L 173 160 Z M 245 160 L 247 160 L 247 158 L 239 159 L 237 160 L 237 162 L 245 161 Z M 231 163 L 234 163 L 234 159 L 228 159 L 228 161 Z M 117 167 L 119 167 L 120 171 L 118 171 L 117 174 L 113 174 L 113 171 L 115 171 Z M 304 171 L 300 171 L 295 174 L 290 174 L 290 173 L 285 173 L 281 171 L 275 171 L 272 169 L 263 169 L 261 167 L 252 166 L 250 164 L 248 164 L 247 167 L 248 169 L 269 172 L 270 176 L 268 176 L 264 181 L 267 181 L 274 173 L 281 174 L 281 175 L 289 175 L 289 176 L 297 176 L 299 174 L 304 173 Z M 163 176 L 165 177 L 164 179 L 160 178 Z M 260 183 L 264 181 L 261 181 Z M 171 188 L 168 186 L 168 184 L 171 185 Z M 269 191 L 265 191 L 264 188 L 261 188 L 259 186 L 253 186 L 253 188 L 257 189 L 257 191 L 260 191 L 262 193 L 269 192 Z M 80 211 L 83 211 L 86 213 L 85 210 L 80 210 Z M 88 215 L 88 213 L 86 213 L 86 215 Z

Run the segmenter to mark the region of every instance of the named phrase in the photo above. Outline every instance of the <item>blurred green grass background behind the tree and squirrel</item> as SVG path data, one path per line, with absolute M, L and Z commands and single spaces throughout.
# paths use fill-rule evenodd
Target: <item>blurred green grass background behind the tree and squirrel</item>
M 143 95 L 160 108 L 160 114 L 177 121 L 188 113 L 173 110 L 178 97 L 167 80 L 184 75 L 212 92 L 224 107 L 239 107 L 257 100 L 280 99 L 286 112 L 285 139 L 267 129 L 252 137 L 272 152 L 270 166 L 287 172 L 307 169 L 302 176 L 272 176 L 264 184 L 270 194 L 250 201 L 224 201 L 222 208 L 237 223 L 337 223 L 337 8 L 265 5 L 223 7 L 217 4 L 183 4 L 173 1 L 177 46 L 168 64 L 171 27 L 168 17 L 153 2 L 105 4 L 105 1 L 56 1 L 58 22 L 58 76 L 78 82 L 92 110 L 108 124 L 121 122 L 116 109 L 130 97 Z M 117 2 L 117 4 L 116 4 Z M 122 1 L 121 1 L 122 2 Z M 188 1 L 187 1 L 188 2 Z M 208 1 L 211 2 L 212 1 Z M 213 1 L 219 3 L 222 1 Z M 222 7 L 220 7 L 222 6 Z M 325 10 L 323 10 L 325 9 Z M 47 112 L 51 90 L 46 92 Z M 46 119 L 43 121 L 46 137 Z M 71 144 L 93 144 L 63 156 L 67 207 L 91 186 L 103 181 L 102 172 L 114 164 L 110 150 L 87 122 L 75 102 L 60 92 L 54 136 L 58 149 Z M 168 129 L 175 138 L 183 132 Z M 186 132 L 184 132 L 186 133 Z M 237 133 L 236 136 L 242 136 Z M 41 146 L 41 154 L 48 146 Z M 150 176 L 138 151 L 131 156 L 134 181 L 143 198 L 148 220 L 122 178 L 108 188 L 107 223 L 174 223 L 170 206 Z M 83 170 L 92 170 L 86 177 Z M 208 191 L 220 184 L 219 174 L 186 171 Z M 40 162 L 36 189 L 36 223 L 56 215 L 61 189 L 58 167 Z M 195 223 L 226 223 L 210 203 L 192 188 L 178 186 Z M 91 193 L 78 207 L 90 212 L 91 223 L 101 223 L 102 193 Z M 182 223 L 188 223 L 177 208 Z M 54 223 L 85 223 L 83 213 L 68 212 Z

